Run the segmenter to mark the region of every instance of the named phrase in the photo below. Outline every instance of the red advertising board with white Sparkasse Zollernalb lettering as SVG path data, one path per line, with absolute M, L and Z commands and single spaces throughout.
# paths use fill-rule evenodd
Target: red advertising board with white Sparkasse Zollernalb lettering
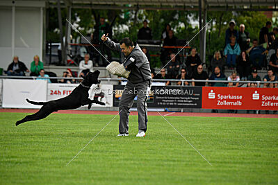
M 278 89 L 202 87 L 202 108 L 278 110 Z

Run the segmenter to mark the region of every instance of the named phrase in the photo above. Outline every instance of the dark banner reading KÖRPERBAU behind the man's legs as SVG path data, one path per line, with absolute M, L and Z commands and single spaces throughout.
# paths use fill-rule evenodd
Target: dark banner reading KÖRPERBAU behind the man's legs
M 119 105 L 123 85 L 114 85 L 113 106 Z M 134 98 L 133 107 L 136 107 L 137 96 Z M 174 86 L 152 86 L 147 99 L 148 107 L 202 107 L 202 87 L 174 87 Z

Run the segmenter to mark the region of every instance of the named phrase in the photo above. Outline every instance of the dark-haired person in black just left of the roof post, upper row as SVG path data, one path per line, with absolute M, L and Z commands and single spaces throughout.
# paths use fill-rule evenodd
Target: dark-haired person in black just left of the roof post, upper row
M 193 71 L 197 71 L 197 66 L 202 64 L 199 55 L 197 55 L 197 50 L 195 48 L 191 49 L 190 55 L 186 58 L 186 68 L 188 71 L 188 76 L 192 78 Z

